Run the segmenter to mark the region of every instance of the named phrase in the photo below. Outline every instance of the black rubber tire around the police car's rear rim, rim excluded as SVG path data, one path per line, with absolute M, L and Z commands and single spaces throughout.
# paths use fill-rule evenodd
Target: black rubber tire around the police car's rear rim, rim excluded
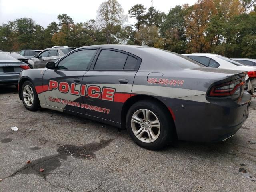
M 145 143 L 140 141 L 132 131 L 132 127 L 131 127 L 132 115 L 134 114 L 134 112 L 136 112 L 139 109 L 148 109 L 152 111 L 157 116 L 160 122 L 160 127 L 161 127 L 160 134 L 158 138 L 152 143 Z M 166 110 L 163 110 L 162 106 L 158 103 L 155 103 L 154 101 L 145 100 L 145 101 L 139 101 L 133 104 L 127 112 L 126 128 L 132 140 L 134 140 L 136 144 L 150 150 L 158 150 L 160 148 L 163 148 L 169 141 L 172 140 L 171 132 L 172 132 L 173 126 L 172 126 L 172 120 L 171 120 L 170 114 L 166 114 Z

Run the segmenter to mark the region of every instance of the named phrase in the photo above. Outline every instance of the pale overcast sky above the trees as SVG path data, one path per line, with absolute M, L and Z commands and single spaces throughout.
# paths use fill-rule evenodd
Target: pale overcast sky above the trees
M 0 25 L 17 18 L 27 17 L 43 27 L 52 21 L 57 21 L 58 14 L 66 13 L 75 23 L 95 19 L 97 10 L 105 0 L 0 0 Z M 151 0 L 118 0 L 128 15 L 128 10 L 134 4 L 142 4 L 149 8 Z M 177 4 L 194 4 L 196 0 L 153 0 L 154 7 L 168 13 Z M 129 22 L 134 20 L 129 18 Z

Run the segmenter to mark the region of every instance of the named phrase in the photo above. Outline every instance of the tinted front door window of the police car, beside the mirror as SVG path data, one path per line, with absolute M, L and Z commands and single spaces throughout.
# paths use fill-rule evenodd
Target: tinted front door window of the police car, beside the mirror
M 95 53 L 95 49 L 76 51 L 61 60 L 57 68 L 64 70 L 88 70 Z

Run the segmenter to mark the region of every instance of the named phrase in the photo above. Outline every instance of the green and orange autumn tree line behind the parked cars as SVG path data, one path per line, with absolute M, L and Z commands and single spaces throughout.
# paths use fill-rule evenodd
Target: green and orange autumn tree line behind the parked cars
M 135 44 L 177 53 L 210 52 L 256 58 L 256 0 L 198 0 L 177 5 L 166 14 L 135 4 L 128 11 L 136 22 L 127 25 L 117 0 L 106 0 L 95 19 L 75 23 L 67 14 L 46 28 L 31 18 L 0 26 L 0 49 L 44 49 L 67 45 Z

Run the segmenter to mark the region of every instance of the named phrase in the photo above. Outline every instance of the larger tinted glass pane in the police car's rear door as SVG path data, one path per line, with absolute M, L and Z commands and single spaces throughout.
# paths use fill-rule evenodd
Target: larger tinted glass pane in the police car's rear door
M 95 70 L 122 70 L 126 62 L 127 54 L 111 50 L 102 50 L 96 64 Z

